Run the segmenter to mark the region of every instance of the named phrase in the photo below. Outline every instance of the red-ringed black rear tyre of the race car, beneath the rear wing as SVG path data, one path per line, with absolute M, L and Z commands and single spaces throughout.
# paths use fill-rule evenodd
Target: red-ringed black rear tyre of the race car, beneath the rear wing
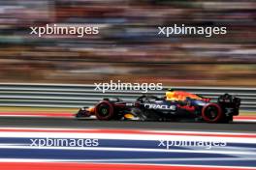
M 218 123 L 223 119 L 223 113 L 218 104 L 208 103 L 202 109 L 202 117 L 208 123 Z

